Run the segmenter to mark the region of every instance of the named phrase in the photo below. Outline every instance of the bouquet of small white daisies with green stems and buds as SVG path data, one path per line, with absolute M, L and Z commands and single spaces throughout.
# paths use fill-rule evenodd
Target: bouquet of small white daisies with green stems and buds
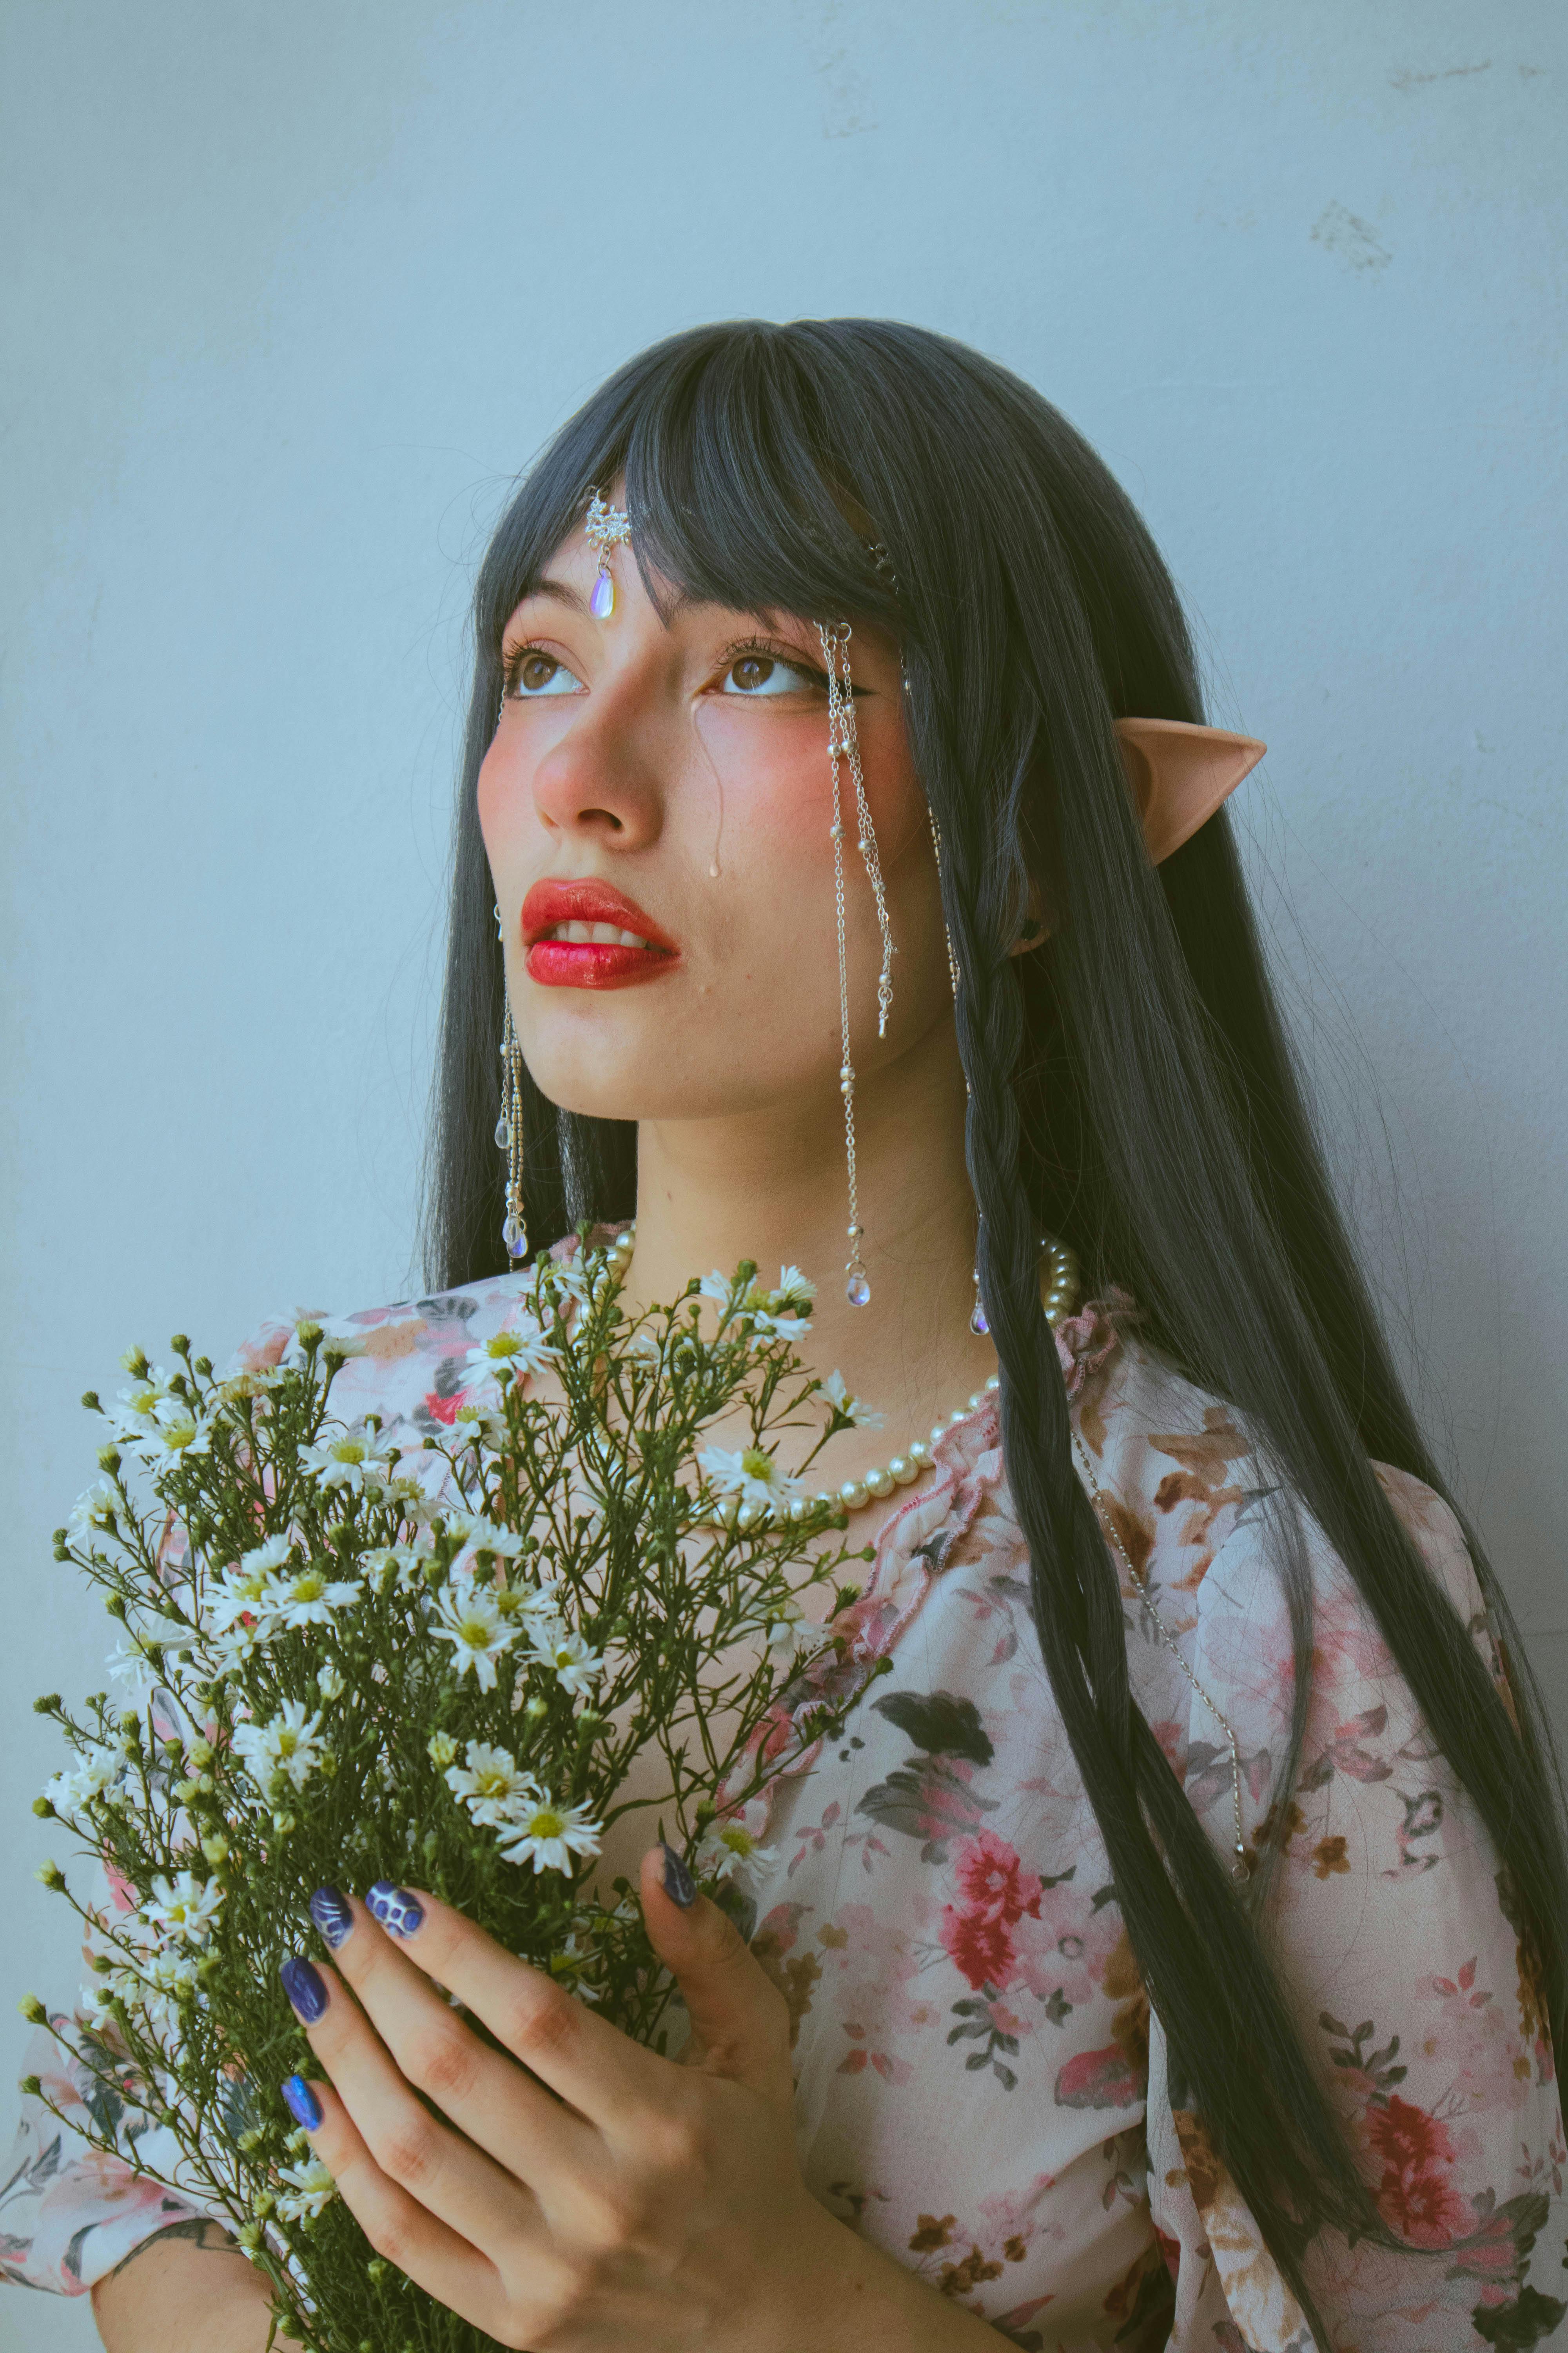
M 743 1264 L 628 1315 L 621 1268 L 588 1235 L 541 1261 L 449 1440 L 416 1452 L 334 1419 L 348 1348 L 315 1322 L 228 1379 L 186 1339 L 174 1372 L 132 1351 L 120 1405 L 85 1400 L 110 1435 L 54 1551 L 125 1628 L 129 1680 L 80 1715 L 38 1701 L 75 1751 L 38 1812 L 108 1897 L 45 1864 L 94 1979 L 75 2019 L 24 2009 L 63 2045 L 89 2141 L 223 2217 L 317 2353 L 482 2339 L 369 2257 L 277 2094 L 303 2057 L 277 1969 L 310 1951 L 310 1889 L 430 1887 L 663 2047 L 672 1988 L 602 1842 L 642 1809 L 722 1892 L 788 1753 L 764 1718 L 839 1647 L 839 1572 L 865 1558 L 776 1457 L 783 1428 L 813 1433 L 809 1466 L 865 1419 L 795 1353 L 811 1287 Z M 813 1678 L 835 1697 L 811 1729 L 858 1680 Z

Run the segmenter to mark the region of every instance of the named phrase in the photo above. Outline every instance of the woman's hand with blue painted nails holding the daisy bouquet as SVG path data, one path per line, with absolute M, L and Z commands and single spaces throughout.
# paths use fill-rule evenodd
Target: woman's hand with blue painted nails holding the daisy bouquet
M 529 2353 L 990 2337 L 806 2191 L 783 1995 L 679 1857 L 642 1866 L 649 1937 L 691 2014 L 679 2061 L 433 1897 L 381 1885 L 367 1901 L 313 1901 L 336 1977 L 284 1967 L 331 2078 L 287 2097 L 376 2252 L 475 2327 Z

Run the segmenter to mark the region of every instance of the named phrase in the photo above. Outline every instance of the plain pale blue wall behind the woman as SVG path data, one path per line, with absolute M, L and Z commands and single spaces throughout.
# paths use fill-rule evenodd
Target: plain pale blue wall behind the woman
M 78 1391 L 409 1275 L 503 482 L 752 311 L 966 336 L 1143 501 L 1272 744 L 1239 812 L 1378 1264 L 1568 1666 L 1563 9 L 12 0 L 0 42 L 7 1802 L 101 1649 L 47 1551 Z M 16 1885 L 0 1981 L 68 1984 Z M 5 2348 L 89 2341 L 21 2306 Z

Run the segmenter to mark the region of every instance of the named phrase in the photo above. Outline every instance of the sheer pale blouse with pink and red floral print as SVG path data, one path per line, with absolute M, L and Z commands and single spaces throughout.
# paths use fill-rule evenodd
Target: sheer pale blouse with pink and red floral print
M 362 1351 L 341 1412 L 402 1445 L 451 1426 L 465 1355 L 515 1318 L 515 1278 L 341 1318 Z M 277 1358 L 287 1325 L 252 1355 Z M 1319 2242 L 1338 2353 L 1509 2353 L 1561 2332 L 1563 2113 L 1535 1984 L 1486 1831 L 1436 1753 L 1338 1558 L 1309 1529 L 1312 1701 L 1295 1786 L 1291 1626 L 1269 1567 L 1276 1489 L 1225 1405 L 1138 1344 L 1124 1301 L 1058 1339 L 1072 1419 L 1131 1565 L 1237 1734 L 1244 1833 L 1279 1849 L 1276 1962 L 1389 2226 L 1415 2249 Z M 1502 1666 L 1446 1504 L 1380 1471 L 1490 1671 Z M 1222 1732 L 1126 1565 L 1133 1692 L 1225 1861 Z M 997 1405 L 936 1447 L 839 1621 L 891 1673 L 830 1744 L 771 1734 L 785 1769 L 745 1826 L 752 1951 L 795 2026 L 811 2191 L 943 2297 L 1032 2353 L 1307 2353 L 1312 2339 L 1166 2042 L 1030 1621 Z M 38 2035 L 28 2066 L 89 2097 Z M 99 2097 L 99 2092 L 92 2092 Z M 158 2134 L 143 2118 L 127 2132 Z M 188 2217 L 26 2101 L 0 2188 L 0 2266 L 80 2294 Z

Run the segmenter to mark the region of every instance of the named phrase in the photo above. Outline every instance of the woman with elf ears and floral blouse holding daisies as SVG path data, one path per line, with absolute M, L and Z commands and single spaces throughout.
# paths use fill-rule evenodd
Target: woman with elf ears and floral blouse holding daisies
M 299 2113 L 503 2344 L 1563 2320 L 1549 1741 L 1312 1141 L 1218 812 L 1255 751 L 1093 452 L 910 327 L 677 336 L 496 532 L 444 1287 L 350 1318 L 346 1379 L 449 1419 L 524 1226 L 635 1212 L 637 1304 L 802 1266 L 811 1362 L 882 1412 L 832 1447 L 891 1668 L 743 1826 L 750 1953 L 644 1861 L 682 2066 L 418 1892 L 317 1892 Z M 209 2224 L 61 2167 L 33 2245 L 71 2226 L 115 2353 L 266 2341 Z

